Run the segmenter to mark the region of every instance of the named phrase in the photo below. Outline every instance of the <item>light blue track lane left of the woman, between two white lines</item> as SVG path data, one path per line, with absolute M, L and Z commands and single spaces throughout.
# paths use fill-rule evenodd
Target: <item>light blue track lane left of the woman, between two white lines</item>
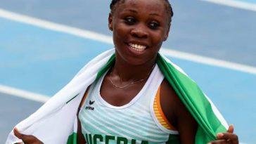
M 1 84 L 49 96 L 91 58 L 113 47 L 2 18 L 0 23 L 5 41 L 0 44 Z

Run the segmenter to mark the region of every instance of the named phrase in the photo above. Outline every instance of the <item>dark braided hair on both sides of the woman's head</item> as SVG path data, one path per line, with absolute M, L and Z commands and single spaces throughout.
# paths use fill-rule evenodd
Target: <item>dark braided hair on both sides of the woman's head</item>
M 165 1 L 166 11 L 169 15 L 169 25 L 171 25 L 172 16 L 173 16 L 172 5 L 169 3 L 168 0 L 163 0 L 163 1 Z M 111 3 L 110 3 L 110 13 L 113 13 L 115 11 L 115 6 L 119 2 L 124 3 L 124 0 L 112 0 L 111 1 Z

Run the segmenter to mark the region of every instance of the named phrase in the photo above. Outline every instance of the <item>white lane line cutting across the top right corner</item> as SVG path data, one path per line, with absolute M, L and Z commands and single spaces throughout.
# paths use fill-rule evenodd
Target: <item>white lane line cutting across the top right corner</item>
M 256 11 L 256 4 L 248 3 L 245 1 L 236 1 L 236 0 L 200 0 L 200 1 L 207 1 L 214 4 L 231 6 L 233 8 L 241 8 L 249 11 Z

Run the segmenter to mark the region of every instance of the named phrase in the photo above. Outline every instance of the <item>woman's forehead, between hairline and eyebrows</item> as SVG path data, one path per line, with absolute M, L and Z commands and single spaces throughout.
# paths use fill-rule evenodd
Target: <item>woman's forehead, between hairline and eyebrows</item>
M 134 10 L 137 13 L 157 13 L 159 15 L 167 12 L 163 0 L 125 0 L 117 5 L 119 12 Z

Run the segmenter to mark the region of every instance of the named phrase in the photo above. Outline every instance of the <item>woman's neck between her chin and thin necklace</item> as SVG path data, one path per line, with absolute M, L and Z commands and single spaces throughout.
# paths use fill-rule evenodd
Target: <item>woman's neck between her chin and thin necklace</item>
M 111 70 L 111 74 L 113 77 L 118 77 L 120 82 L 145 79 L 152 72 L 155 66 L 155 59 L 156 57 L 141 65 L 132 65 L 116 55 L 115 65 Z

